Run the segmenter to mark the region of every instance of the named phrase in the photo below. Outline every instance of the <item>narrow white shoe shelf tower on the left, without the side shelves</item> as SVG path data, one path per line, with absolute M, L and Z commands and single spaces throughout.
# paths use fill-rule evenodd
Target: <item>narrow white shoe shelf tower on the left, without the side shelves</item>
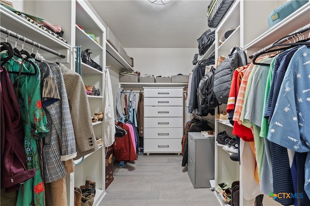
M 104 90 L 104 68 L 106 66 L 105 55 L 105 34 L 106 28 L 101 21 L 93 14 L 91 8 L 85 1 L 75 1 L 75 46 L 80 46 L 81 53 L 89 49 L 90 58 L 99 64 L 103 71 L 100 71 L 86 63 L 81 62 L 81 77 L 86 86 L 93 86 L 100 89 L 100 95 L 88 95 L 88 101 L 92 117 L 96 117 L 103 111 L 103 90 Z M 82 29 L 81 29 L 82 28 Z M 97 41 L 94 41 L 87 33 L 93 33 Z M 75 64 L 75 63 L 74 63 Z M 101 120 L 101 121 L 100 121 Z M 103 121 L 96 117 L 93 121 L 93 131 L 97 139 L 103 139 Z M 93 205 L 100 203 L 105 195 L 105 147 L 100 146 L 92 154 L 74 161 L 75 171 L 70 174 L 71 189 L 85 185 L 86 179 L 95 182 L 95 196 Z

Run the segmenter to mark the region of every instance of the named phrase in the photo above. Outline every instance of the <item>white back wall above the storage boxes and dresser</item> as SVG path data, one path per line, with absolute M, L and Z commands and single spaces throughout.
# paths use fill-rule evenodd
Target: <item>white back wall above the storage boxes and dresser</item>
M 134 70 L 154 76 L 189 74 L 198 48 L 125 48 L 134 58 Z

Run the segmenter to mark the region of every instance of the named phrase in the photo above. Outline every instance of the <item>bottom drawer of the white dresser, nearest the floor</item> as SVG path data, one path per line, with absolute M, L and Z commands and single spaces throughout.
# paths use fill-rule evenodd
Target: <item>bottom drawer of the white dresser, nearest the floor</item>
M 143 152 L 181 152 L 180 139 L 144 139 Z

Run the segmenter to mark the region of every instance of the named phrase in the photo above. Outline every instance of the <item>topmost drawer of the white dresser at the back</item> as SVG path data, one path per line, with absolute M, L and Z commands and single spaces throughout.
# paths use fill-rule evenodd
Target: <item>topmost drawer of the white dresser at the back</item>
M 183 97 L 183 88 L 144 88 L 144 97 Z

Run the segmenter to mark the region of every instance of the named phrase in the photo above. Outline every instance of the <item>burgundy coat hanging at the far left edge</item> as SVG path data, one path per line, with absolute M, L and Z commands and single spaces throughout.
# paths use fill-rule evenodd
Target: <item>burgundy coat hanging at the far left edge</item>
M 1 189 L 11 192 L 34 177 L 35 169 L 26 169 L 23 122 L 11 78 L 5 67 L 0 73 Z

